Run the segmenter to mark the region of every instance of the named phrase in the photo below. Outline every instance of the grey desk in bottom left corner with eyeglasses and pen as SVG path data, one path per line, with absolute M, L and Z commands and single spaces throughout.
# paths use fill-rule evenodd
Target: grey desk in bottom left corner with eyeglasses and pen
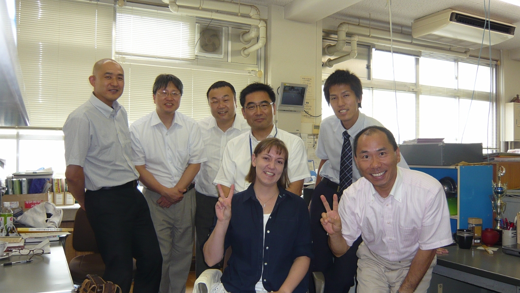
M 28 259 L 17 255 L 0 263 Z M 51 243 L 50 253 L 35 255 L 34 262 L 0 266 L 0 288 L 3 293 L 74 292 L 74 284 L 65 253 L 59 242 Z

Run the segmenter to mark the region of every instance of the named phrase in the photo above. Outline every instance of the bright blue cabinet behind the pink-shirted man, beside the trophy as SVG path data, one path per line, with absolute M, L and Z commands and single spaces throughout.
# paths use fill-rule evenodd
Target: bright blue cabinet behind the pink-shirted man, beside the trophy
M 410 166 L 439 180 L 449 176 L 457 182 L 457 215 L 451 216 L 451 231 L 467 229 L 467 218 L 482 218 L 482 228 L 492 228 L 493 208 L 489 195 L 493 193 L 491 165 L 477 166 Z

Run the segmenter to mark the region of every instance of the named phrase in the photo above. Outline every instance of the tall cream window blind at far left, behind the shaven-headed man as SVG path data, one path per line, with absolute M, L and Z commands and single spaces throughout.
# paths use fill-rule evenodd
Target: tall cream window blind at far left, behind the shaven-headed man
M 18 0 L 18 55 L 30 126 L 62 127 L 87 99 L 94 63 L 112 57 L 113 5 Z

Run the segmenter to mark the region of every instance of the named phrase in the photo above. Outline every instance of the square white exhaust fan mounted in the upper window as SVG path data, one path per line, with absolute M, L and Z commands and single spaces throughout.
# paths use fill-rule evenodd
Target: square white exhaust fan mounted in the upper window
M 224 27 L 197 23 L 196 55 L 223 58 L 224 57 Z

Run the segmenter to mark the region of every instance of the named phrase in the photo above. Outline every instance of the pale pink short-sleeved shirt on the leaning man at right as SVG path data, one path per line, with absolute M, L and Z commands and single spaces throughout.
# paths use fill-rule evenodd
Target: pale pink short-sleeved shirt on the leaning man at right
M 444 189 L 419 171 L 398 167 L 385 199 L 363 177 L 343 191 L 338 211 L 347 245 L 361 235 L 370 251 L 388 261 L 411 260 L 419 248 L 453 242 Z

